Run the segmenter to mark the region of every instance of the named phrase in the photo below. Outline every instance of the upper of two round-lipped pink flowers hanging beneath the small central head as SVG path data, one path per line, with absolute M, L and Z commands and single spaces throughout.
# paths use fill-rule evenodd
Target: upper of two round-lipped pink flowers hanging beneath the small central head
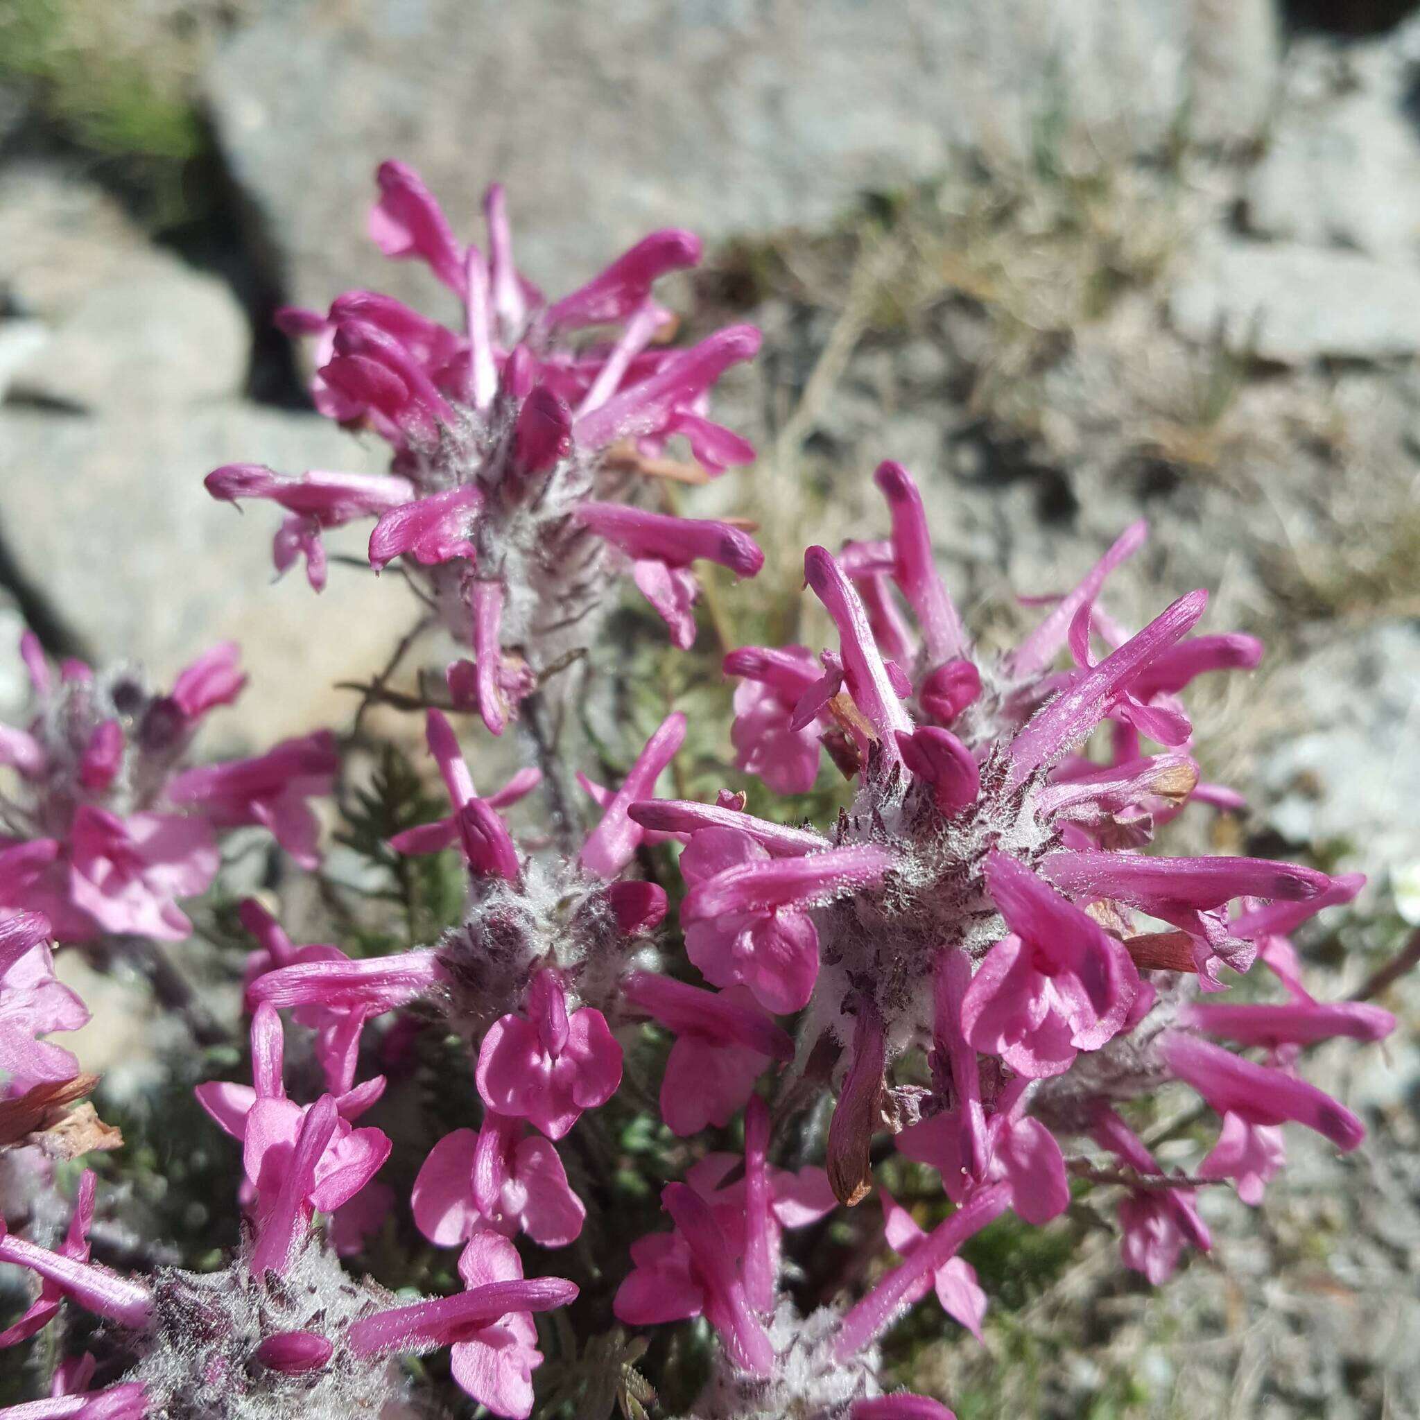
M 527 1015 L 503 1015 L 479 1048 L 479 1095 L 488 1109 L 531 1119 L 561 1139 L 584 1109 L 605 1105 L 621 1085 L 622 1051 L 606 1017 L 591 1007 L 567 1010 L 554 971 L 528 985 Z

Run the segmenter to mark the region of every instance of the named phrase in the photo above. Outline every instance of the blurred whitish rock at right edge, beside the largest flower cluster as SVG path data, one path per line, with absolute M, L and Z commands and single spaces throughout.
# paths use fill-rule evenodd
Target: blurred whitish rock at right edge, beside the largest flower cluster
M 1294 842 L 1349 842 L 1372 873 L 1420 862 L 1420 625 L 1338 635 L 1292 662 L 1271 699 L 1291 723 L 1258 765 L 1268 821 Z

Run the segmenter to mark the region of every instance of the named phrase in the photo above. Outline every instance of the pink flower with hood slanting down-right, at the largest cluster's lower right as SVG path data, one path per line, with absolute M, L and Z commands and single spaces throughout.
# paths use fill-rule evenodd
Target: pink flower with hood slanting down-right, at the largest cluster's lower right
M 1258 1065 L 1183 1031 L 1167 1032 L 1162 1051 L 1169 1071 L 1223 1116 L 1223 1133 L 1203 1160 L 1198 1177 L 1233 1179 L 1244 1203 L 1260 1203 L 1264 1184 L 1282 1164 L 1279 1125 L 1288 1120 L 1306 1125 L 1343 1153 L 1356 1149 L 1366 1136 L 1349 1109 L 1281 1069 Z

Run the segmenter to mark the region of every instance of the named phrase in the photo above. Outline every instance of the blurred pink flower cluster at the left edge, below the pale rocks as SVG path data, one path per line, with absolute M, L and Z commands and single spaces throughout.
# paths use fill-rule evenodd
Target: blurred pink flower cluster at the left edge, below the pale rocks
M 209 711 L 246 684 L 237 648 L 216 646 L 172 690 L 132 669 L 58 673 L 30 633 L 20 652 L 34 714 L 0 726 L 0 907 L 41 912 L 61 943 L 108 933 L 180 941 L 179 902 L 212 885 L 217 832 L 266 828 L 305 868 L 320 861 L 310 799 L 331 792 L 338 758 L 328 731 L 287 740 L 251 760 L 185 768 Z

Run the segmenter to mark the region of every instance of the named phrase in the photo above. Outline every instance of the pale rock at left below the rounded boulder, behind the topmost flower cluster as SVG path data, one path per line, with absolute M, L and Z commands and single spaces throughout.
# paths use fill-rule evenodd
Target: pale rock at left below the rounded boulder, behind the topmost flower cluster
M 18 571 L 94 656 L 141 660 L 162 680 L 213 642 L 240 642 L 251 747 L 346 717 L 354 697 L 334 682 L 368 679 L 416 608 L 399 578 L 339 565 L 320 596 L 300 569 L 274 582 L 277 510 L 243 517 L 202 487 L 233 460 L 379 466 L 314 415 L 237 402 L 94 417 L 0 410 L 0 528 Z M 358 554 L 365 535 L 352 527 L 328 545 Z

